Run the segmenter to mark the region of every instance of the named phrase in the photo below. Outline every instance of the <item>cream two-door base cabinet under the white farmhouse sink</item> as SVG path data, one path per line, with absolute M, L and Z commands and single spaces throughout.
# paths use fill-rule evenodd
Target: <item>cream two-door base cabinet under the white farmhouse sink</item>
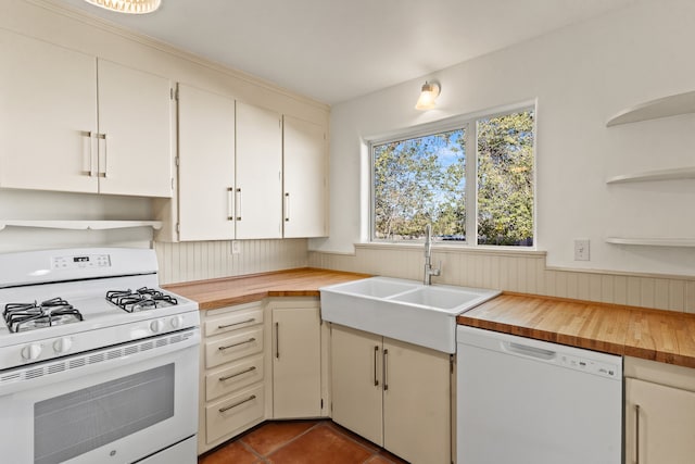
M 331 328 L 332 418 L 414 464 L 452 462 L 450 354 Z

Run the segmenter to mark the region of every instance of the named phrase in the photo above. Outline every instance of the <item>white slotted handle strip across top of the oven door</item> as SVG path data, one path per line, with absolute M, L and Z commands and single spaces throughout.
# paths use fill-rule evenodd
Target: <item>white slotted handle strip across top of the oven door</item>
M 76 376 L 85 377 L 117 369 L 181 350 L 199 350 L 199 347 L 200 327 L 194 327 L 52 361 L 27 364 L 2 372 L 0 397 L 70 380 Z

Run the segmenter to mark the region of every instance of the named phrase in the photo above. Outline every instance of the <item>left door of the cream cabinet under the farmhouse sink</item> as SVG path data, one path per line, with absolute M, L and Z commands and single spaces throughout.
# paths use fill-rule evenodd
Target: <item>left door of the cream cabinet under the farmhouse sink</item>
M 332 418 L 383 444 L 381 336 L 333 325 L 331 328 Z

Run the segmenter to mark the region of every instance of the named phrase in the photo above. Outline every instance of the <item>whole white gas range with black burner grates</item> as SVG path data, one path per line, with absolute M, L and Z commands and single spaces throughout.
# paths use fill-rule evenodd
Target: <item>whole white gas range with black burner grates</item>
M 0 455 L 195 462 L 198 303 L 153 250 L 0 254 Z

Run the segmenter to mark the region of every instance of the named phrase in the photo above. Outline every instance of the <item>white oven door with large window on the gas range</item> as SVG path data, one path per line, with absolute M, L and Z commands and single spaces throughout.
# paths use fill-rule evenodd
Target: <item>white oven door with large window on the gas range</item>
M 2 461 L 193 464 L 199 344 L 194 328 L 0 372 Z

